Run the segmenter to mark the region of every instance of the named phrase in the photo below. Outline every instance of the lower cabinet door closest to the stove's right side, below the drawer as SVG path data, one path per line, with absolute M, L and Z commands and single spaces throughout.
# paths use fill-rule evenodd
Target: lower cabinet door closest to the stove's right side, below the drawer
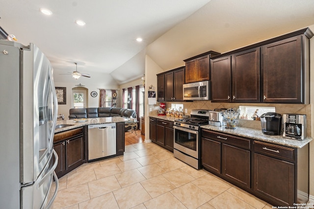
M 215 173 L 221 173 L 221 142 L 201 139 L 202 165 Z

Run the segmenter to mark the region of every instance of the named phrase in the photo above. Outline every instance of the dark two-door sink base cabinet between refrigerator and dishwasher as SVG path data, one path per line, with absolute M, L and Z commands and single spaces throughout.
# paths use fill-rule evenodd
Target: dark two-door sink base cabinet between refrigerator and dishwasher
M 53 142 L 53 148 L 58 155 L 58 165 L 54 170 L 58 178 L 86 160 L 83 127 L 57 133 L 54 135 Z

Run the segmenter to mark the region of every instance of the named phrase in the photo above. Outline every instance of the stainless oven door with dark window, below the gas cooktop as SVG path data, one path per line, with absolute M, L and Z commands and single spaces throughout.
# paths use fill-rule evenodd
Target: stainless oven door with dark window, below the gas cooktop
M 173 126 L 174 149 L 179 150 L 195 159 L 199 158 L 199 136 L 198 131 Z

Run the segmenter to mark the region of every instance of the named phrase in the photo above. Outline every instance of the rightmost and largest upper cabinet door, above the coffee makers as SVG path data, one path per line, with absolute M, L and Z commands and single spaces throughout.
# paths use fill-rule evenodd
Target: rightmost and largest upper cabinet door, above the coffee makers
M 263 53 L 263 101 L 302 102 L 301 36 L 265 45 Z

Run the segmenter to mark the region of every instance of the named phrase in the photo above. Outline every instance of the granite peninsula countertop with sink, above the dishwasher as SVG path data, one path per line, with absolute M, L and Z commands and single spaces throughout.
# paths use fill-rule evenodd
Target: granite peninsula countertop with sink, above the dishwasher
M 86 121 L 83 122 L 76 122 L 75 120 L 57 120 L 56 125 L 71 125 L 64 128 L 58 128 L 54 130 L 54 133 L 60 133 L 62 131 L 67 131 L 75 128 L 79 128 L 85 125 L 95 125 L 95 124 L 104 124 L 104 123 L 119 123 L 119 122 L 129 122 L 128 118 L 116 116 L 116 117 L 93 117 L 93 118 L 86 118 Z

